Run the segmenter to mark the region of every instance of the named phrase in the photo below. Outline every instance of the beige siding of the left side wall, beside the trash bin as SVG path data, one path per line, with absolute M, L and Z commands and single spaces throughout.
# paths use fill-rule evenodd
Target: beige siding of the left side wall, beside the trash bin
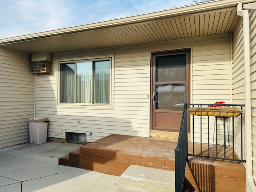
M 30 54 L 0 48 L 0 148 L 29 141 L 34 116 Z

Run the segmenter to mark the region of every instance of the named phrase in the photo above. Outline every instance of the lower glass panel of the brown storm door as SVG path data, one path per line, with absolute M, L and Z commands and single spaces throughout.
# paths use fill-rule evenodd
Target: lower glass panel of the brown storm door
M 156 85 L 156 109 L 180 110 L 184 106 L 185 84 Z

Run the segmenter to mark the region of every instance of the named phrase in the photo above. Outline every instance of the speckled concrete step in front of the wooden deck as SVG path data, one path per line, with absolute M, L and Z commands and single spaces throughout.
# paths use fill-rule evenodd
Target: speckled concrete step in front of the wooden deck
M 174 192 L 175 172 L 130 165 L 121 175 L 117 192 Z

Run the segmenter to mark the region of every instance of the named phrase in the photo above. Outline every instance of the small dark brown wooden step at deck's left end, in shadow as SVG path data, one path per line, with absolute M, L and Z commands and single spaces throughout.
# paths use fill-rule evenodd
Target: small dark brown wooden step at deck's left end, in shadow
M 69 154 L 59 158 L 59 165 L 79 168 L 79 160 L 80 160 L 79 156 L 80 156 L 79 149 L 72 151 Z

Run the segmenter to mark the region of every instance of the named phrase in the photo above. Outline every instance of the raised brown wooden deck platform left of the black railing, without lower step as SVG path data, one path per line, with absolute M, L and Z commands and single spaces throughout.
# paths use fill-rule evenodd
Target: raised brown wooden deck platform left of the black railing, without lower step
M 130 166 L 174 171 L 177 142 L 112 134 L 80 147 L 80 168 L 121 176 Z

